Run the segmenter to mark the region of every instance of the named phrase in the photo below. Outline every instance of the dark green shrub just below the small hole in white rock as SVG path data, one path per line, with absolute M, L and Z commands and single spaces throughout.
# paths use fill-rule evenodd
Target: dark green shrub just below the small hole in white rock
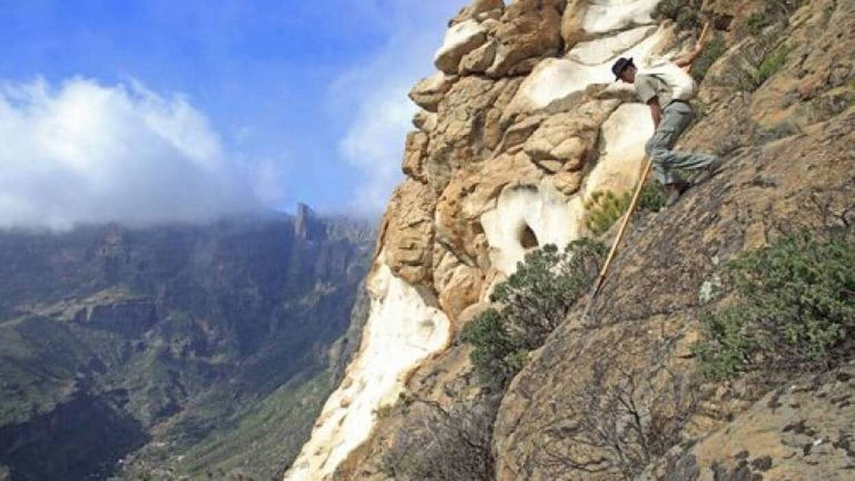
M 481 381 L 504 387 L 525 365 L 528 353 L 543 345 L 597 276 L 605 254 L 601 243 L 582 239 L 563 252 L 546 245 L 529 252 L 516 273 L 500 282 L 488 309 L 464 329 L 475 346 L 471 359 Z

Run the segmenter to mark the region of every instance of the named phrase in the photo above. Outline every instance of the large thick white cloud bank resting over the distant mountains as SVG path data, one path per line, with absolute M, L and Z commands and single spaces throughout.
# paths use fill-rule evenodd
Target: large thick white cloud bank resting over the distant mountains
M 202 221 L 259 208 L 262 179 L 231 161 L 180 95 L 74 78 L 0 84 L 0 228 Z M 265 172 L 266 170 L 266 172 Z M 267 183 L 266 183 L 267 182 Z

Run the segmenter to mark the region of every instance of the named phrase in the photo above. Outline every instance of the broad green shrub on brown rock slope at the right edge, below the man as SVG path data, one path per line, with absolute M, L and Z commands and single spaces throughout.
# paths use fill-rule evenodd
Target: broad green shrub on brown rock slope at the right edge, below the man
M 834 364 L 855 334 L 855 245 L 801 232 L 728 264 L 733 306 L 703 318 L 693 347 L 708 377 Z

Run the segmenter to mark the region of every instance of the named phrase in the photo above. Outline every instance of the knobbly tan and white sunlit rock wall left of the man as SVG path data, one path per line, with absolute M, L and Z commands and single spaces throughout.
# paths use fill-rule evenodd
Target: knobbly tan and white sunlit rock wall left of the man
M 594 192 L 634 187 L 653 125 L 610 65 L 673 53 L 657 3 L 475 0 L 451 20 L 438 72 L 410 92 L 422 111 L 380 229 L 362 348 L 286 479 L 330 478 L 526 252 L 585 235 Z

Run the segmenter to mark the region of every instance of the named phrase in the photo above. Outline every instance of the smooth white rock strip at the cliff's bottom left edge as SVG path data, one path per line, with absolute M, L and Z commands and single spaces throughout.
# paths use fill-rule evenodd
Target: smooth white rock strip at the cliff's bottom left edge
M 445 314 L 399 277 L 383 260 L 370 275 L 371 311 L 362 346 L 345 381 L 327 400 L 315 429 L 285 479 L 332 478 L 351 450 L 368 438 L 380 407 L 398 400 L 407 373 L 445 347 L 451 325 Z

